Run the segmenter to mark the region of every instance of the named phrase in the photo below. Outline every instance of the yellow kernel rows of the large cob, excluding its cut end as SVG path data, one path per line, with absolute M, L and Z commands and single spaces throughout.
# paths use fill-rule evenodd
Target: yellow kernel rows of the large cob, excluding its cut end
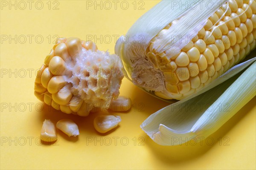
M 175 22 L 163 28 L 146 50 L 148 61 L 162 73 L 164 91 L 146 87 L 141 79 L 135 80 L 135 84 L 164 99 L 180 100 L 195 93 L 243 60 L 256 46 L 255 0 L 229 0 L 178 54 L 169 56 L 168 49 L 157 53 L 154 42 Z

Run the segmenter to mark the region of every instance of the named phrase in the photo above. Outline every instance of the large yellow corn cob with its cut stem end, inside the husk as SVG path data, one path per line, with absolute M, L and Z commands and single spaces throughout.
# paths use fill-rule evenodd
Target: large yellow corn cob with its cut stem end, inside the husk
M 163 47 L 171 43 L 164 43 L 164 37 L 170 36 L 169 29 L 175 29 L 182 19 L 181 15 L 159 31 L 144 46 L 145 52 L 137 44 L 124 44 L 116 50 L 128 65 L 134 84 L 163 99 L 180 100 L 194 94 L 243 60 L 256 46 L 255 0 L 224 1 L 196 34 L 181 42 L 185 44 L 181 49 Z M 184 27 L 187 24 L 183 23 Z M 137 53 L 141 57 L 134 57 Z

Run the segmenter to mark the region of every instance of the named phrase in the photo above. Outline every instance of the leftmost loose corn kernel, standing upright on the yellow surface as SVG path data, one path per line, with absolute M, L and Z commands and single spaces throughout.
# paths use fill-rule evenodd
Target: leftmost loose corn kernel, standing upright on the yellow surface
M 50 121 L 45 119 L 42 129 L 41 129 L 41 139 L 44 142 L 53 142 L 57 140 L 55 125 Z

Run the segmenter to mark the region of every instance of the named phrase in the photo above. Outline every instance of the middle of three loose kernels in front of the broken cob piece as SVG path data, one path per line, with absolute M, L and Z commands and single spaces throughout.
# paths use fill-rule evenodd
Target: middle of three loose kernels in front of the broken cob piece
M 68 137 L 70 136 L 78 136 L 79 129 L 73 120 L 70 119 L 61 119 L 57 122 L 56 127 L 67 134 Z

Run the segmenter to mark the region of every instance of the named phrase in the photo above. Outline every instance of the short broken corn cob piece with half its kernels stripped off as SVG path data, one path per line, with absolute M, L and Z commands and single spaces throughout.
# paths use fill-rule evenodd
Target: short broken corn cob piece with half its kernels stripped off
M 87 116 L 118 97 L 122 69 L 117 55 L 97 50 L 92 41 L 60 38 L 37 72 L 35 96 L 56 110 Z

